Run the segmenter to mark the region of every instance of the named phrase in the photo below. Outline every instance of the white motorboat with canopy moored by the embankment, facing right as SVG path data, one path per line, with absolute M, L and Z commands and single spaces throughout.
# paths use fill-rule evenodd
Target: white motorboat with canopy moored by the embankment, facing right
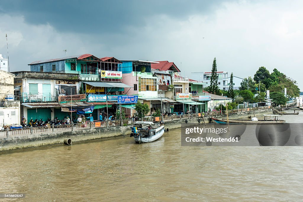
M 153 142 L 164 134 L 164 125 L 155 126 L 151 121 L 137 121 L 132 127 L 131 137 L 138 144 Z

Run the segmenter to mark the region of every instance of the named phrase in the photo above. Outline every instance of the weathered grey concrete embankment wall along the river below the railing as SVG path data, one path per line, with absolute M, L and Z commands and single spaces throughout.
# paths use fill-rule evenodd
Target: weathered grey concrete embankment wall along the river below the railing
M 271 109 L 263 109 L 259 111 L 239 112 L 238 114 L 229 114 L 229 118 L 247 118 L 249 116 L 261 116 L 262 114 L 271 113 Z M 216 116 L 220 118 L 222 116 Z M 223 116 L 226 117 L 226 116 Z M 204 118 L 205 123 L 209 123 L 208 118 Z M 198 123 L 198 119 L 188 119 L 188 123 Z M 168 121 L 165 122 L 165 129 L 180 128 L 181 124 L 185 124 L 185 120 Z M 201 119 L 201 124 L 203 121 Z M 72 143 L 97 140 L 109 137 L 119 137 L 123 135 L 129 135 L 131 132 L 131 126 L 120 127 L 103 127 L 95 129 L 83 129 L 75 131 L 56 131 L 55 133 L 42 133 L 22 136 L 9 136 L 0 138 L 0 154 L 22 151 L 26 148 L 41 147 L 48 145 L 63 144 L 65 138 L 71 138 Z

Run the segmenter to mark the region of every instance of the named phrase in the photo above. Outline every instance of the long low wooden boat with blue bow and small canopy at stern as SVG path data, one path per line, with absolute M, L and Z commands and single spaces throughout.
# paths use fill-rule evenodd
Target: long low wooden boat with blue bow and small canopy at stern
M 268 115 L 268 114 L 263 114 L 264 120 L 258 120 L 257 118 L 253 119 L 226 119 L 222 118 L 220 119 L 215 119 L 211 118 L 213 121 L 215 121 L 218 124 L 284 124 L 284 120 L 278 120 L 279 115 Z M 273 120 L 268 120 L 268 117 L 275 117 Z

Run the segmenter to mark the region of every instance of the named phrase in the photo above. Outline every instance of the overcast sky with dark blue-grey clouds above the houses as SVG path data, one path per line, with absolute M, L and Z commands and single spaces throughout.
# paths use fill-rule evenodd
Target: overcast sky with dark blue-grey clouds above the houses
M 260 66 L 303 90 L 303 1 L 5 1 L 0 54 L 11 71 L 32 61 L 89 53 L 173 61 L 182 76 L 218 71 L 253 76 Z M 181 67 L 182 62 L 182 67 Z

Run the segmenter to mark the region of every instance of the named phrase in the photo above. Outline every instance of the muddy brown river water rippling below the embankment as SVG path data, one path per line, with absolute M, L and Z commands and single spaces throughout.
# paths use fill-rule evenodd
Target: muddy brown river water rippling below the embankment
M 283 115 L 303 123 L 299 115 Z M 249 132 L 249 131 L 248 131 Z M 0 155 L 0 194 L 15 201 L 299 201 L 302 147 L 185 147 L 181 130 Z M 2 199 L 0 199 L 2 200 Z

